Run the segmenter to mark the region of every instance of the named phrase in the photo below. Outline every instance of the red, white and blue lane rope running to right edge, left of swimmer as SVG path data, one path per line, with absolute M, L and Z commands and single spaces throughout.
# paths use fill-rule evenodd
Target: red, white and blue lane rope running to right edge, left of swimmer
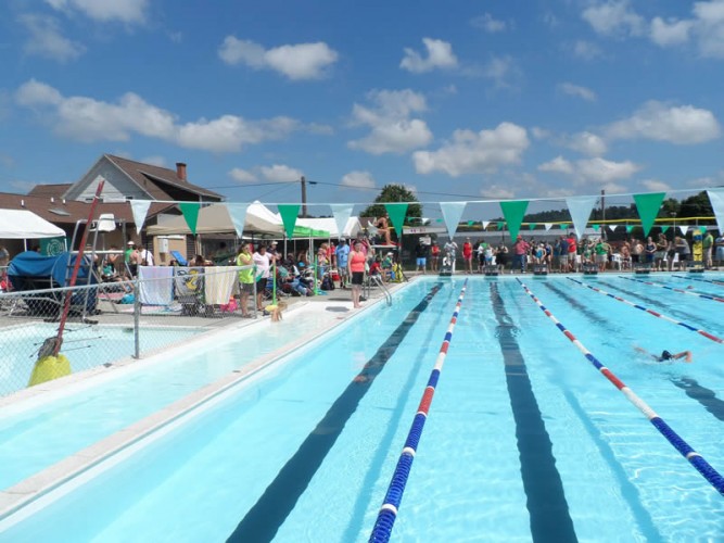
M 590 351 L 588 351 L 583 343 L 581 343 L 575 336 L 573 336 L 554 315 L 550 313 L 541 301 L 535 298 L 533 292 L 523 283 L 520 279 L 516 278 L 521 287 L 525 290 L 528 295 L 533 299 L 535 304 L 541 308 L 546 316 L 554 321 L 556 327 L 563 332 L 563 334 L 571 340 L 571 342 L 583 353 L 588 362 L 590 362 L 598 371 L 604 374 L 606 378 L 619 389 L 626 400 L 634 404 L 644 416 L 653 425 L 653 427 L 659 430 L 661 435 L 663 435 L 671 445 L 678 451 L 684 458 L 689 460 L 689 463 L 696 468 L 701 476 L 709 481 L 709 483 L 716 489 L 716 491 L 724 496 L 724 477 L 716 471 L 699 453 L 697 453 L 691 446 L 684 441 L 656 412 L 649 407 L 649 405 L 644 402 L 640 397 L 634 393 L 628 387 L 626 387 L 623 381 L 621 381 L 615 375 L 611 372 L 606 366 L 604 366 L 598 358 L 596 358 Z

